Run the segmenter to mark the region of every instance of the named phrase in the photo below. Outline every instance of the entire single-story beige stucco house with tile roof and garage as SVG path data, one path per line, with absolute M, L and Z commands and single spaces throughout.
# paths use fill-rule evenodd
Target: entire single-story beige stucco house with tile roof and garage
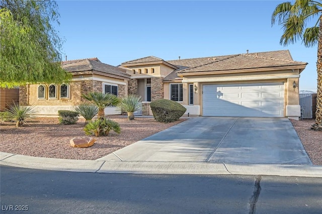
M 299 77 L 306 64 L 288 50 L 167 61 L 148 56 L 118 67 L 96 58 L 73 60 L 62 63 L 73 74 L 69 85 L 29 85 L 20 97 L 48 115 L 85 101 L 82 93 L 117 90 L 119 96 L 139 94 L 142 115 L 151 115 L 150 101 L 165 98 L 184 105 L 186 115 L 298 119 Z M 106 114 L 120 113 L 109 107 Z

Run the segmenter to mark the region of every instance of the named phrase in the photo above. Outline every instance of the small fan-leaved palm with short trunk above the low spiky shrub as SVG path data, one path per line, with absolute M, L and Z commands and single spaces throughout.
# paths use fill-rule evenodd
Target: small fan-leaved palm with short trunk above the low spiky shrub
M 111 93 L 90 92 L 88 94 L 82 94 L 82 97 L 91 101 L 97 106 L 99 109 L 99 119 L 103 119 L 105 117 L 104 110 L 107 106 L 117 105 L 120 101 L 116 95 Z

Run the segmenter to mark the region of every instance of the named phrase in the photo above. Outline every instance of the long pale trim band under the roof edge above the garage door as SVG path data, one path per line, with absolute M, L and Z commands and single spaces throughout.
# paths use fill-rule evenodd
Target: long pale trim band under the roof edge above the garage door
M 255 75 L 255 76 L 197 77 L 197 78 L 186 78 L 186 77 L 184 77 L 182 82 L 183 83 L 190 83 L 190 82 L 223 82 L 223 81 L 287 79 L 287 78 L 299 78 L 299 77 L 300 77 L 299 74 L 295 74 L 295 75 L 278 75 L 278 76 Z

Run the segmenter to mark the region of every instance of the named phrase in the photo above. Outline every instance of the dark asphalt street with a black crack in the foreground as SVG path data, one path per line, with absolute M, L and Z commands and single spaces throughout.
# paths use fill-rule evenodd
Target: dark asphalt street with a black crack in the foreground
M 9 166 L 1 166 L 0 172 L 1 213 L 320 213 L 322 207 L 322 179 L 312 177 Z

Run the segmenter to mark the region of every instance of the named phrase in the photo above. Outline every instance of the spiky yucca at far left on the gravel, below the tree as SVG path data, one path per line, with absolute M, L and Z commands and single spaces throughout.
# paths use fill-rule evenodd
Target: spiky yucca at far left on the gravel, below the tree
M 26 119 L 31 118 L 36 113 L 33 105 L 20 106 L 17 102 L 8 103 L 9 109 L 6 110 L 8 118 L 16 121 L 16 126 L 20 127 L 26 124 Z

